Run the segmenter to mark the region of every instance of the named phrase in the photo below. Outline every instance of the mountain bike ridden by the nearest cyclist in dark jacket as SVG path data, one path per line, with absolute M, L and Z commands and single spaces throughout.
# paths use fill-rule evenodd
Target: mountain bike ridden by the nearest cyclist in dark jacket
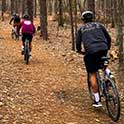
M 100 94 L 100 99 L 103 97 L 106 103 L 106 109 L 109 117 L 113 121 L 118 121 L 120 117 L 120 98 L 118 94 L 118 90 L 116 87 L 116 81 L 114 76 L 106 75 L 105 69 L 109 64 L 108 57 L 101 58 L 101 69 L 96 73 L 97 75 L 97 84 L 98 84 L 98 92 Z M 94 101 L 94 95 L 91 87 L 91 83 L 89 81 L 88 74 L 88 89 L 89 95 L 92 101 Z

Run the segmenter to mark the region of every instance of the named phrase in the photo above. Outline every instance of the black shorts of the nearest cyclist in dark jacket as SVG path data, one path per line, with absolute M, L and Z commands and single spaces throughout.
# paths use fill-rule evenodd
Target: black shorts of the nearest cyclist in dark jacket
M 84 62 L 87 72 L 96 72 L 100 69 L 101 57 L 107 55 L 107 50 L 85 55 Z

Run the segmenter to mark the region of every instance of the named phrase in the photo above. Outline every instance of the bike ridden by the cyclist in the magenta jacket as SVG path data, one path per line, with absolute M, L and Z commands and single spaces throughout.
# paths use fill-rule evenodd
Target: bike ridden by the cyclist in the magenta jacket
M 29 64 L 29 58 L 30 58 L 30 54 L 29 54 L 29 40 L 26 39 L 25 40 L 25 46 L 24 46 L 24 61 L 26 64 Z

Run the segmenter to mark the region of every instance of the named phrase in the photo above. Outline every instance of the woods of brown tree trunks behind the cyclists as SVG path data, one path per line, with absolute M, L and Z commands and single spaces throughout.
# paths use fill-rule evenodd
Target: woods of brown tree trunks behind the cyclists
M 48 39 L 48 16 L 58 22 L 59 27 L 71 26 L 72 50 L 75 50 L 75 32 L 81 23 L 80 15 L 84 10 L 91 10 L 95 20 L 100 21 L 109 28 L 116 30 L 116 43 L 118 46 L 119 66 L 124 65 L 124 0 L 0 0 L 1 21 L 5 14 L 19 13 L 22 16 L 28 13 L 33 18 L 39 18 L 41 27 L 40 36 Z M 111 36 L 112 37 L 112 36 Z

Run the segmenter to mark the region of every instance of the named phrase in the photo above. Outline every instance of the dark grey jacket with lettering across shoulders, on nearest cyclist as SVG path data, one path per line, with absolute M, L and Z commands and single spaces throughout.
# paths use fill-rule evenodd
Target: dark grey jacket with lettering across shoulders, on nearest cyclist
M 102 50 L 109 50 L 111 37 L 105 27 L 98 22 L 90 22 L 81 26 L 76 33 L 76 49 L 81 51 L 81 43 L 86 54 L 92 54 Z

